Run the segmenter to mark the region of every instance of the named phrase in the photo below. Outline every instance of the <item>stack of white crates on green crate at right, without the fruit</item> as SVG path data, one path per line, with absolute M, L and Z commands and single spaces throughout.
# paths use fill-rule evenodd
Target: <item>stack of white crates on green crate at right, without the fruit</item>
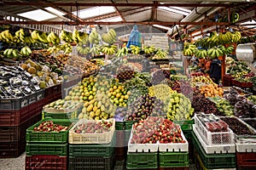
M 236 146 L 230 128 L 212 133 L 196 114 L 192 142 L 197 169 L 236 169 Z

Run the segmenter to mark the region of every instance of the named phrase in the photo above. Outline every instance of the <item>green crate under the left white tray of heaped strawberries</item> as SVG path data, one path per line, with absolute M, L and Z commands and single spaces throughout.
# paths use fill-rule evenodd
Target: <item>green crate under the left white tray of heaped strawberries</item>
M 127 169 L 158 168 L 158 153 L 127 153 Z

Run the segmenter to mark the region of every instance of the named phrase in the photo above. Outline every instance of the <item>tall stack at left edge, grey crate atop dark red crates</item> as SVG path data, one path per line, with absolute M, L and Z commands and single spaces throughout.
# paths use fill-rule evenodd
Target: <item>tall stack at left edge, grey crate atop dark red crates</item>
M 43 90 L 32 95 L 0 100 L 0 157 L 18 157 L 25 151 L 26 128 L 41 119 L 44 106 Z

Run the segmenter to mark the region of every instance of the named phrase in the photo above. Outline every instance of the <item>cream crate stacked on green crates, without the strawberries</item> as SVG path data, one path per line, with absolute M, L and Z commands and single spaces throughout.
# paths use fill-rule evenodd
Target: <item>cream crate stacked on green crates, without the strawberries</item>
M 74 128 L 94 122 L 81 119 L 69 131 L 69 170 L 111 170 L 114 167 L 115 122 L 110 131 L 104 133 L 75 133 Z

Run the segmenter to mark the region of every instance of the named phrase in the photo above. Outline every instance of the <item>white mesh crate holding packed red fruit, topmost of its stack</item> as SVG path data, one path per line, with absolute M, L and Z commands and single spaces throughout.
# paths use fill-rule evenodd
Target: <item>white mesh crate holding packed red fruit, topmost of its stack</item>
M 213 114 L 195 114 L 195 126 L 208 145 L 233 144 L 234 134 L 228 124 Z

